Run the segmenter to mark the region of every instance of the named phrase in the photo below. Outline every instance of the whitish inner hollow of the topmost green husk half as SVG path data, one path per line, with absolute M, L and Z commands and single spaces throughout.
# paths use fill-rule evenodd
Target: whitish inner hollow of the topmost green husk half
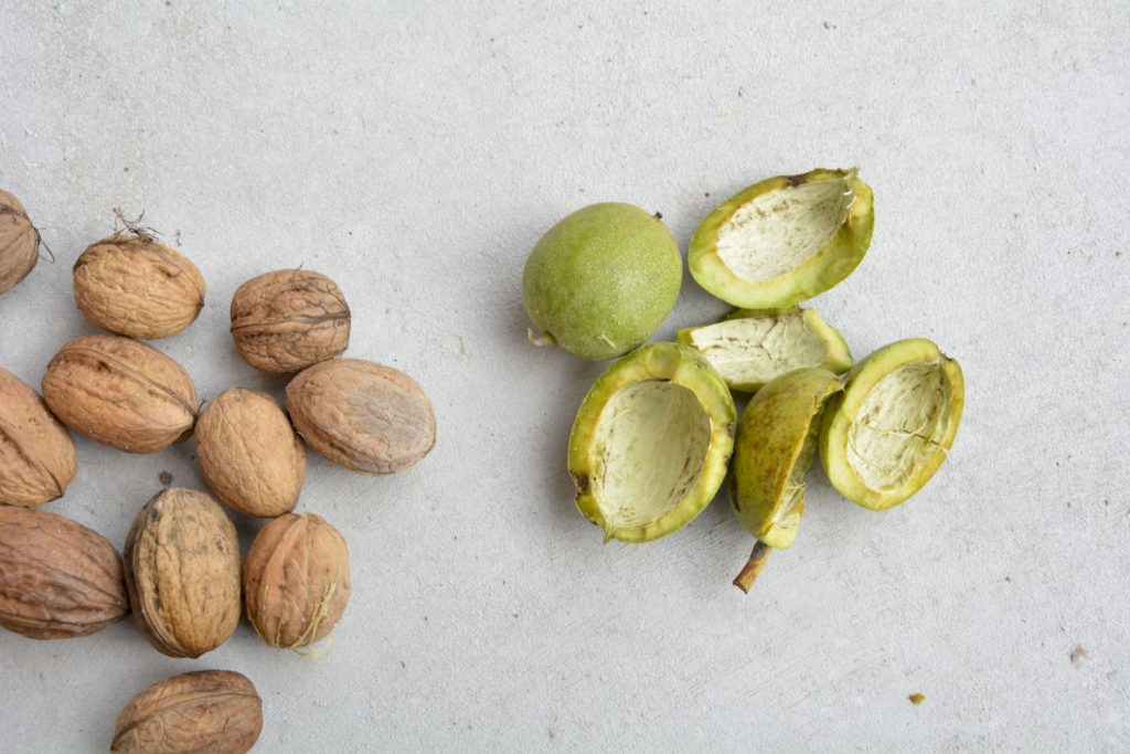
M 846 180 L 759 194 L 719 229 L 718 255 L 744 280 L 772 280 L 815 255 L 847 219 L 853 200 Z

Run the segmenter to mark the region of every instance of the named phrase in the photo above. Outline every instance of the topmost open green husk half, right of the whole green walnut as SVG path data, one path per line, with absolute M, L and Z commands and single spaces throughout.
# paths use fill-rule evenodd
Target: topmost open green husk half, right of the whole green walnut
M 690 274 L 734 306 L 780 309 L 836 285 L 871 243 L 871 189 L 855 171 L 772 177 L 706 216 L 690 240 Z

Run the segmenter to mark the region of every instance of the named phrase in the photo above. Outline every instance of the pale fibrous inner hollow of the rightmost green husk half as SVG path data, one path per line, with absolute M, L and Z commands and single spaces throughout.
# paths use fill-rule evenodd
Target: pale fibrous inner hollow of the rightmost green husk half
M 880 379 L 847 433 L 847 463 L 871 489 L 895 489 L 930 460 L 949 418 L 940 362 L 901 366 Z

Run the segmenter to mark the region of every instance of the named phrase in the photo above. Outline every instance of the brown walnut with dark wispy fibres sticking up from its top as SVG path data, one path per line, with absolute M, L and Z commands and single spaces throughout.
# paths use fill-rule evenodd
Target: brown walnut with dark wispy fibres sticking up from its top
M 75 303 L 98 327 L 131 338 L 167 338 L 189 327 L 205 291 L 195 265 L 146 235 L 103 239 L 75 262 Z

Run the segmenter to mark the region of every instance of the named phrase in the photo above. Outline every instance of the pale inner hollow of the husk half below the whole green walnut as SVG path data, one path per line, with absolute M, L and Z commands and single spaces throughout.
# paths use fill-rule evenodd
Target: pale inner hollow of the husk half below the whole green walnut
M 608 529 L 651 523 L 698 480 L 711 422 L 689 389 L 666 380 L 624 388 L 596 430 L 593 494 Z

